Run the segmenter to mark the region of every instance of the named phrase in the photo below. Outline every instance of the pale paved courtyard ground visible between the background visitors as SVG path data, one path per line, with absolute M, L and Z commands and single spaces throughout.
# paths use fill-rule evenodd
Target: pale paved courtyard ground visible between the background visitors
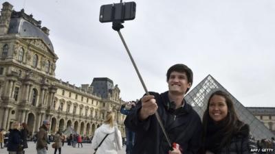
M 36 149 L 35 149 L 36 144 L 34 144 L 34 142 L 28 142 L 28 146 L 29 148 L 25 149 L 25 154 L 36 154 Z M 83 143 L 83 148 L 78 148 L 77 144 L 76 144 L 76 148 L 73 148 L 72 146 L 67 146 L 67 144 L 65 143 L 61 149 L 61 153 L 62 154 L 93 154 L 94 149 L 91 149 L 91 144 L 89 143 Z M 118 153 L 125 154 L 125 146 L 123 146 L 122 151 L 119 151 Z M 0 154 L 8 154 L 7 149 L 6 148 L 0 149 Z M 54 149 L 52 149 L 50 144 L 49 144 L 49 150 L 47 151 L 47 154 L 54 154 Z

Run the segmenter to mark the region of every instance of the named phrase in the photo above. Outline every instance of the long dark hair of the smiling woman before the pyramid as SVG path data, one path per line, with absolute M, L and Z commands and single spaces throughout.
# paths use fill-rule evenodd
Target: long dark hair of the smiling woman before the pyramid
M 234 133 L 236 133 L 241 129 L 241 127 L 243 126 L 243 122 L 241 122 L 239 118 L 236 116 L 233 101 L 232 99 L 230 99 L 230 96 L 221 90 L 213 92 L 208 99 L 207 109 L 203 114 L 203 120 L 202 120 L 203 144 L 206 144 L 206 136 L 207 136 L 206 133 L 208 132 L 207 130 L 208 124 L 210 123 L 210 120 L 212 120 L 212 118 L 209 116 L 209 103 L 210 103 L 210 99 L 212 99 L 214 95 L 218 95 L 225 98 L 225 103 L 228 107 L 228 115 L 222 120 L 223 127 L 219 131 L 217 131 L 217 133 L 215 133 L 214 135 L 214 136 L 221 136 L 221 133 L 222 133 L 223 138 L 219 138 L 221 144 L 219 144 L 219 148 L 218 148 L 218 149 L 221 149 L 230 144 L 232 136 L 234 135 Z

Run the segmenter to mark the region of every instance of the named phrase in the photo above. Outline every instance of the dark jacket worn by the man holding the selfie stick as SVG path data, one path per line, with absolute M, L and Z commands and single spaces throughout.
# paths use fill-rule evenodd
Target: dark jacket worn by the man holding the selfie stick
M 162 123 L 168 133 L 170 142 L 176 142 L 182 148 L 181 153 L 197 153 L 201 146 L 201 119 L 192 106 L 184 102 L 184 107 L 180 107 L 174 112 L 169 110 L 168 92 L 158 94 L 150 92 L 155 96 Z M 138 112 L 141 109 L 141 102 L 138 102 L 135 110 L 126 116 L 124 124 L 126 127 L 135 131 L 136 139 L 133 154 L 167 154 L 169 151 L 168 142 L 162 133 L 155 114 L 141 121 Z

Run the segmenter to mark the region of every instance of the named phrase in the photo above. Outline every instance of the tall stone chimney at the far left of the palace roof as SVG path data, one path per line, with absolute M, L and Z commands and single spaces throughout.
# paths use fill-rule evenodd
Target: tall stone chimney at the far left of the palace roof
M 3 8 L 1 9 L 0 16 L 0 35 L 8 34 L 8 29 L 10 26 L 10 17 L 12 16 L 13 5 L 7 1 L 2 4 Z

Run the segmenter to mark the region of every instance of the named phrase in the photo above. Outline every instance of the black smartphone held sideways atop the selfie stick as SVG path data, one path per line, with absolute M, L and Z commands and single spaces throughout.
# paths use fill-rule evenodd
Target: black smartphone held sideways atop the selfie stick
M 101 23 L 113 21 L 129 21 L 135 18 L 135 2 L 113 3 L 100 7 L 99 21 Z

